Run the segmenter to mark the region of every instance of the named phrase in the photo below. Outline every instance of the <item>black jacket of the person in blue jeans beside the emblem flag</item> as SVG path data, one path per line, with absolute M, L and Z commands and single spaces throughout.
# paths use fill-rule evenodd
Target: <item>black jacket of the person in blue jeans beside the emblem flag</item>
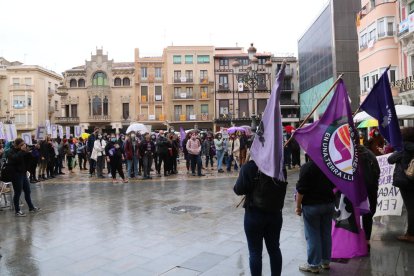
M 303 195 L 302 205 L 325 204 L 335 201 L 334 184 L 313 161 L 300 168 L 296 190 Z

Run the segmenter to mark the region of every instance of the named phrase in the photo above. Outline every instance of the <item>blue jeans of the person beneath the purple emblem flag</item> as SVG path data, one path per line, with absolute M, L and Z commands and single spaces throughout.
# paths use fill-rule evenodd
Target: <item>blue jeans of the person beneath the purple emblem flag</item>
M 319 267 L 321 264 L 329 264 L 331 261 L 331 230 L 334 209 L 334 203 L 302 206 L 310 266 Z

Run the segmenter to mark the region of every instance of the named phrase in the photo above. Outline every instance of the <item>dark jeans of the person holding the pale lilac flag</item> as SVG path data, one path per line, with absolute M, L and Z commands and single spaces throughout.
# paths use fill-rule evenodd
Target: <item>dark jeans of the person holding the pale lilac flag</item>
M 246 209 L 244 231 L 249 247 L 249 264 L 252 276 L 262 275 L 263 239 L 270 258 L 272 275 L 282 273 L 282 253 L 279 248 L 282 212 L 265 213 L 257 209 Z

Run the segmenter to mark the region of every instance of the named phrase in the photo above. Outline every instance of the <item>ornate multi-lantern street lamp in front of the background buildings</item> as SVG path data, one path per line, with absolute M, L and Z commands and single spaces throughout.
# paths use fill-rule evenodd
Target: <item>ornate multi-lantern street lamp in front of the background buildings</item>
M 240 68 L 240 62 L 235 60 L 232 63 L 234 72 L 237 77 L 237 82 L 242 83 L 243 87 L 247 86 L 252 91 L 252 124 L 251 129 L 253 132 L 256 132 L 257 122 L 256 122 L 256 103 L 254 101 L 254 93 L 257 90 L 257 87 L 261 83 L 266 83 L 266 76 L 271 74 L 272 61 L 268 60 L 264 64 L 265 68 L 259 68 L 259 60 L 256 57 L 256 48 L 253 46 L 253 43 L 250 44 L 247 54 L 249 57 L 249 65 L 246 68 Z M 270 78 L 269 78 L 270 79 Z

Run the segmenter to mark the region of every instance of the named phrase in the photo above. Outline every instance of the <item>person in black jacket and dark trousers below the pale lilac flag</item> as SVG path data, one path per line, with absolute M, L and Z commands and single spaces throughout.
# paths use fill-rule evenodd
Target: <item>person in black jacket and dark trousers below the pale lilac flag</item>
M 286 170 L 283 171 L 286 179 Z M 272 275 L 282 272 L 282 253 L 279 247 L 282 229 L 282 208 L 287 182 L 261 173 L 254 161 L 245 163 L 239 173 L 234 192 L 246 195 L 243 207 L 244 231 L 249 248 L 250 272 L 262 275 L 263 239 L 270 258 Z

